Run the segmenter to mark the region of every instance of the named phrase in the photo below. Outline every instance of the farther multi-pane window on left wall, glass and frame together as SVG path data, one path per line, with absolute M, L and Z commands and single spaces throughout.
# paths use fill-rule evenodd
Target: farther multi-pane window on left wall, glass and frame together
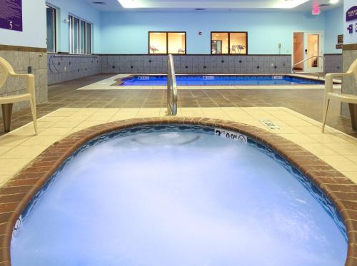
M 91 54 L 91 23 L 69 16 L 69 52 Z

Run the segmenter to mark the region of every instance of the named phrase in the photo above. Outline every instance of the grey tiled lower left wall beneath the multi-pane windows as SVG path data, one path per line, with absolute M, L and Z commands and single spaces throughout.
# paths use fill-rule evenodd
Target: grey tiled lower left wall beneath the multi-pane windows
M 101 73 L 101 56 L 48 55 L 49 84 Z

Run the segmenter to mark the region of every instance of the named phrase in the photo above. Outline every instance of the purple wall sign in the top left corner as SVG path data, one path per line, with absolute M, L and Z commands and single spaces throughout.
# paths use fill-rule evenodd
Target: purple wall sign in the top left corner
M 0 28 L 22 31 L 22 0 L 0 0 Z

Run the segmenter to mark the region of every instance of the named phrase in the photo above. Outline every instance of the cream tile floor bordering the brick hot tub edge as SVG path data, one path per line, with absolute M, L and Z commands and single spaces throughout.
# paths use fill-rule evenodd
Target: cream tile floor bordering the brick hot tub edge
M 165 116 L 166 108 L 59 108 L 39 119 L 39 135 L 29 123 L 0 137 L 0 186 L 57 140 L 81 129 L 128 118 Z M 357 183 L 357 138 L 286 107 L 179 108 L 178 116 L 220 118 L 264 128 L 303 146 Z M 261 123 L 269 120 L 279 129 Z

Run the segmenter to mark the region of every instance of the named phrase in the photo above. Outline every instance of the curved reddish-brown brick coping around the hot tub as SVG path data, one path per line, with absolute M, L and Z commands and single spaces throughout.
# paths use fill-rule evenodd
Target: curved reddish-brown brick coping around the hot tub
M 328 195 L 340 212 L 348 235 L 346 265 L 357 265 L 357 185 L 300 145 L 264 129 L 211 118 L 136 118 L 105 123 L 73 133 L 44 150 L 0 188 L 0 266 L 10 266 L 10 245 L 16 220 L 58 168 L 82 145 L 106 133 L 135 126 L 185 124 L 218 127 L 258 140 L 286 158 Z

